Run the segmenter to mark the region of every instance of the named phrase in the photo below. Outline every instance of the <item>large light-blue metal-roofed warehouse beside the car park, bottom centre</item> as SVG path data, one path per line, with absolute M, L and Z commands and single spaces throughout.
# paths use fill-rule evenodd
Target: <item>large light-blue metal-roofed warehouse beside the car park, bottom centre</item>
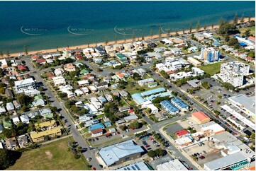
M 144 150 L 133 141 L 125 141 L 113 146 L 101 148 L 99 155 L 107 166 L 121 164 L 128 160 L 140 158 Z

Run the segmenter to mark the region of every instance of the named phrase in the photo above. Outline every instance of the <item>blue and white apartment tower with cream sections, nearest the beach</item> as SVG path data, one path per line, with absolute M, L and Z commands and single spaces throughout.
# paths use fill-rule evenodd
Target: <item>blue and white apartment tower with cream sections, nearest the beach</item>
M 218 61 L 220 59 L 220 51 L 213 49 L 213 47 L 203 47 L 201 49 L 201 59 L 208 62 Z

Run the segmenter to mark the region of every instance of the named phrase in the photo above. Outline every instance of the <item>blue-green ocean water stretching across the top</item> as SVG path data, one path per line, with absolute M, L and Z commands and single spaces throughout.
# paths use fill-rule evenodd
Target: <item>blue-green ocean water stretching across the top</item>
M 255 1 L 0 1 L 0 49 L 11 53 L 218 24 L 255 14 Z

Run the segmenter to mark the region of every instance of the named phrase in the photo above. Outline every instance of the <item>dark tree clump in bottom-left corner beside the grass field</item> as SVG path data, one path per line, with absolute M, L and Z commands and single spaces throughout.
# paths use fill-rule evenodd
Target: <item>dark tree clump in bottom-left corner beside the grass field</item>
M 0 170 L 6 170 L 11 165 L 16 163 L 16 160 L 21 157 L 21 152 L 11 151 L 6 148 L 0 148 Z

